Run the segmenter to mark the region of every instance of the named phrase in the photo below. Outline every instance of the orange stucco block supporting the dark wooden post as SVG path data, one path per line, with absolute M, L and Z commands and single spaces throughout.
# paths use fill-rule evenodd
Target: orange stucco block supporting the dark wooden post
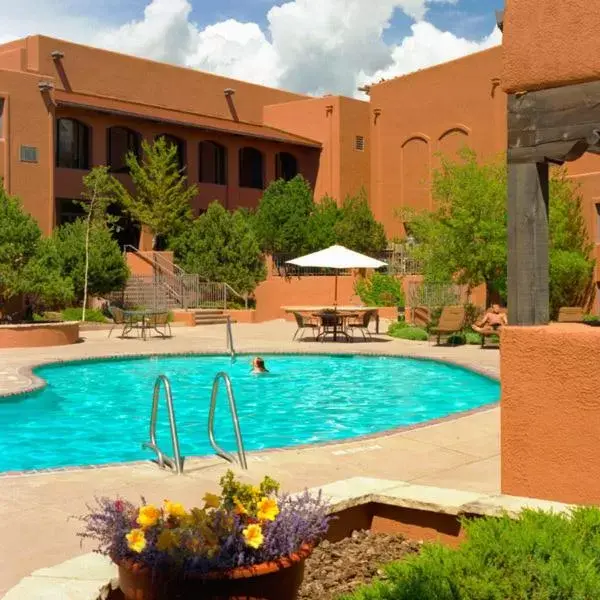
M 502 493 L 600 500 L 600 328 L 507 327 L 501 335 Z

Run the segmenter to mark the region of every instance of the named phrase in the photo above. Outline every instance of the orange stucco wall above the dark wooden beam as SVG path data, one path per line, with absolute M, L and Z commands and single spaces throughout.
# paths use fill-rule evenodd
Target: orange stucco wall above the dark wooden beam
M 518 92 L 600 79 L 595 0 L 506 0 L 502 86 Z

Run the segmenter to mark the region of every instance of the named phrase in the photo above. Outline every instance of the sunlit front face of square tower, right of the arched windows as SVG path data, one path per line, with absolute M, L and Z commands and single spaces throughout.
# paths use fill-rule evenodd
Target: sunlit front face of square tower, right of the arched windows
M 265 125 L 306 136 L 323 145 L 314 183 L 315 198 L 325 195 L 339 200 L 340 186 L 340 98 L 326 96 L 265 106 Z

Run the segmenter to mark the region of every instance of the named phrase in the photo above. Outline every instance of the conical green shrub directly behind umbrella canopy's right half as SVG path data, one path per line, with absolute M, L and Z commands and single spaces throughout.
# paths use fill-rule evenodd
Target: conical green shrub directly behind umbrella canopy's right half
M 356 252 L 381 252 L 387 246 L 383 225 L 375 220 L 367 195 L 361 190 L 348 196 L 342 203 L 339 220 L 335 225 L 337 243 Z

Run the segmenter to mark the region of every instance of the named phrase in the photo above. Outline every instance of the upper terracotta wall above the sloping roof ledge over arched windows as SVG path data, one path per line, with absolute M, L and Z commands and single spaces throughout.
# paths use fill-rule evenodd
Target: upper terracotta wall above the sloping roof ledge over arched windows
M 233 88 L 237 118 L 255 123 L 264 105 L 305 97 L 44 36 L 29 37 L 26 44 L 28 68 L 55 77 L 57 89 L 67 91 L 232 119 L 223 90 Z M 60 65 L 51 57 L 54 50 L 64 53 Z

